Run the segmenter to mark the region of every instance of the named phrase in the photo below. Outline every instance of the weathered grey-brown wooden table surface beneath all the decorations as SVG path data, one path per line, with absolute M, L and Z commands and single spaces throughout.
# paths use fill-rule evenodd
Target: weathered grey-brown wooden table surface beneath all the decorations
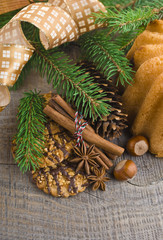
M 68 199 L 46 195 L 19 171 L 10 150 L 17 106 L 35 88 L 51 90 L 31 73 L 0 113 L 0 240 L 162 240 L 163 159 L 133 157 L 138 174 L 131 182 L 112 180 L 105 192 L 87 189 Z M 125 141 L 124 135 L 118 144 Z

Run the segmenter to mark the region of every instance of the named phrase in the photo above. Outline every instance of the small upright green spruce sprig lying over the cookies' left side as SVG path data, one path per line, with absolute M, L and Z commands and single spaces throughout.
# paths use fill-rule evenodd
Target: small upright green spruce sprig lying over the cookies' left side
M 44 98 L 38 92 L 27 92 L 18 107 L 18 127 L 15 136 L 15 161 L 24 173 L 35 170 L 43 156 L 46 118 Z

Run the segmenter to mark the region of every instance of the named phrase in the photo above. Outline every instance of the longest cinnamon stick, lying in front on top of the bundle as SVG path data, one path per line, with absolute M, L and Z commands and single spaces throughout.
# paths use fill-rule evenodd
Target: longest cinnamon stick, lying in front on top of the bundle
M 63 116 L 48 105 L 44 108 L 44 113 L 51 117 L 59 125 L 69 130 L 72 134 L 75 133 L 75 123 L 69 118 Z M 105 140 L 96 133 L 89 131 L 87 128 L 84 129 L 82 135 L 83 139 L 87 142 L 95 144 L 97 147 L 100 147 L 103 150 L 110 152 L 114 155 L 121 156 L 124 152 L 124 148 Z

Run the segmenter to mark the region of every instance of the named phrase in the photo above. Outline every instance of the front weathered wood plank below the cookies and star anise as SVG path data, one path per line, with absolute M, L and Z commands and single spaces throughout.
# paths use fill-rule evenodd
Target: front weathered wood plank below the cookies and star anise
M 69 199 L 44 194 L 17 166 L 0 167 L 1 240 L 161 240 L 163 184 L 116 181 Z

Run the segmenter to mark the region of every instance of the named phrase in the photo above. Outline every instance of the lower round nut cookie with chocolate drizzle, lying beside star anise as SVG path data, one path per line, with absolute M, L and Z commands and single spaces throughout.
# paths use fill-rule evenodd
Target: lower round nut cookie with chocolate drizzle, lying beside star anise
M 69 197 L 83 192 L 88 181 L 86 176 L 61 163 L 54 167 L 40 168 L 33 172 L 37 187 L 54 197 Z

